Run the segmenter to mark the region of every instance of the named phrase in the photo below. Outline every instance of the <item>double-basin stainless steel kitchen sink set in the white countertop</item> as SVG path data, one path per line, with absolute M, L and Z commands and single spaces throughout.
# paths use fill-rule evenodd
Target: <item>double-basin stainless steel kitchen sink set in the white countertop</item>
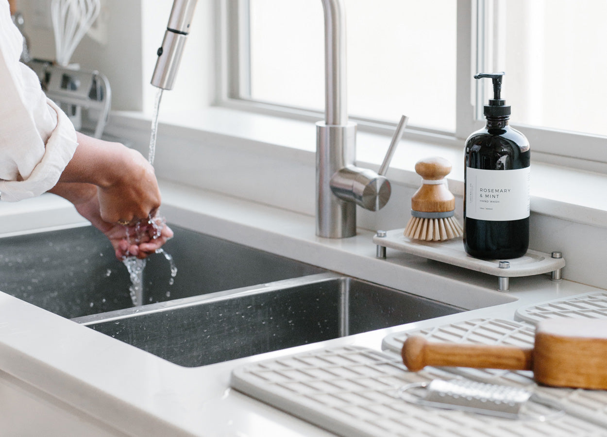
M 463 311 L 172 225 L 148 258 L 143 305 L 101 232 L 0 239 L 0 290 L 186 367 Z

